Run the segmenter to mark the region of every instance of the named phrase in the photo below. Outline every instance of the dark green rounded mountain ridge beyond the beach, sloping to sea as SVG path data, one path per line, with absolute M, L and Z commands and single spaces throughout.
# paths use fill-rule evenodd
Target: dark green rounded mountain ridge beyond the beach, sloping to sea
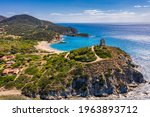
M 63 27 L 26 14 L 4 19 L 0 22 L 0 27 L 4 27 L 7 34 L 22 36 L 25 39 L 49 40 L 56 34 L 77 33 L 74 28 Z

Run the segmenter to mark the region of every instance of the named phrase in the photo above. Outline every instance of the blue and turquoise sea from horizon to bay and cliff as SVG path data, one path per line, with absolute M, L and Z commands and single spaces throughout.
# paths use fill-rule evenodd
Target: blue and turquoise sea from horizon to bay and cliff
M 101 38 L 105 38 L 107 45 L 120 47 L 130 54 L 134 62 L 140 66 L 140 70 L 143 73 L 144 78 L 147 81 L 150 81 L 150 24 L 61 25 L 74 27 L 78 29 L 79 32 L 90 34 L 90 37 L 83 38 L 64 36 L 63 39 L 66 43 L 53 44 L 51 47 L 63 51 L 69 51 L 99 44 L 99 40 Z M 148 89 L 150 94 L 149 85 L 141 87 L 141 90 L 144 91 L 148 91 Z

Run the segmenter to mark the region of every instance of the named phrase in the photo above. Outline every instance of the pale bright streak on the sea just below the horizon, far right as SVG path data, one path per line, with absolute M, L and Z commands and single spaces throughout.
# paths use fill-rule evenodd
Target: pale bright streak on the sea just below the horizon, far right
M 150 35 L 112 35 L 110 37 L 141 43 L 150 43 Z

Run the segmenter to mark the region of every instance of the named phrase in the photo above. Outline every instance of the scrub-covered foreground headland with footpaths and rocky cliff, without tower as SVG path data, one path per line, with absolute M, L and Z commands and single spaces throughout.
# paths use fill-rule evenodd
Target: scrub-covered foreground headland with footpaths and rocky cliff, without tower
M 6 58 L 7 56 L 5 56 Z M 4 56 L 3 56 L 4 58 Z M 123 94 L 144 83 L 120 48 L 92 46 L 61 54 L 19 54 L 1 59 L 0 86 L 30 98 L 65 99 Z

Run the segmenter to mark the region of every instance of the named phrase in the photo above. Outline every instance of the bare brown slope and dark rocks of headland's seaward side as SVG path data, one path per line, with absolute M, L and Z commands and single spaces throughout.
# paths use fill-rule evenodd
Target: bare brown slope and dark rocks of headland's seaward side
M 131 90 L 131 84 L 138 85 L 145 82 L 129 55 L 118 48 L 106 48 L 111 50 L 112 58 L 82 64 L 82 67 L 67 73 L 66 79 L 70 79 L 70 85 L 65 85 L 63 90 L 49 88 L 46 93 L 41 91 L 40 98 L 64 99 L 123 94 Z

